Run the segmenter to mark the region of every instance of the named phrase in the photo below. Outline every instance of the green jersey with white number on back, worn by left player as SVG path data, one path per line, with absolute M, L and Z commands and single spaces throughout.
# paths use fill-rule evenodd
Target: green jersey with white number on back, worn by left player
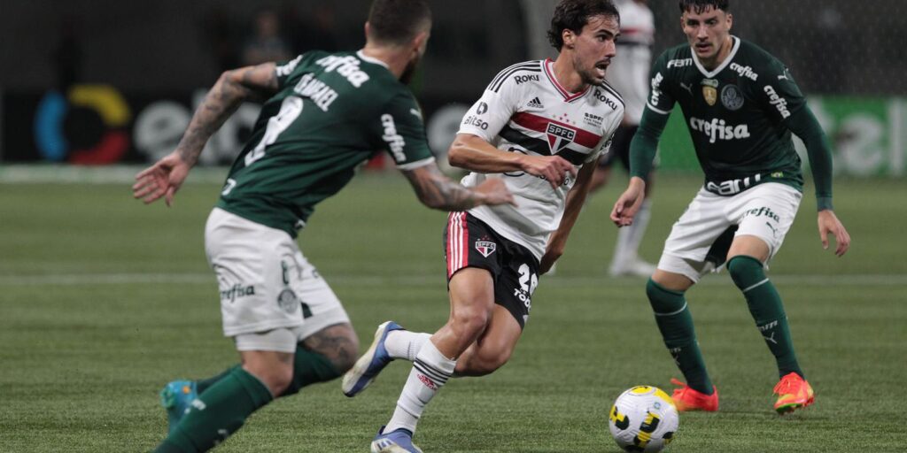
M 434 160 L 412 92 L 384 63 L 361 51 L 311 52 L 279 64 L 277 75 L 278 93 L 262 106 L 218 207 L 295 237 L 377 150 L 399 169 Z

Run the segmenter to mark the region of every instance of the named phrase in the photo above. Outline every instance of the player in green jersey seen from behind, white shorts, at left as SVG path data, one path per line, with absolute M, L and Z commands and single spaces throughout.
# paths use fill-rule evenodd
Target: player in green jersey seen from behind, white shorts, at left
M 356 361 L 349 318 L 295 237 L 315 205 L 343 188 L 376 150 L 391 154 L 428 207 L 512 203 L 501 181 L 465 188 L 434 163 L 421 111 L 405 86 L 430 31 L 424 0 L 375 0 L 366 46 L 356 53 L 305 53 L 225 72 L 177 149 L 137 175 L 135 198 L 164 198 L 170 206 L 224 120 L 243 101 L 266 100 L 205 229 L 224 334 L 241 364 L 161 391 L 171 426 L 155 451 L 208 450 L 271 400 L 332 380 Z

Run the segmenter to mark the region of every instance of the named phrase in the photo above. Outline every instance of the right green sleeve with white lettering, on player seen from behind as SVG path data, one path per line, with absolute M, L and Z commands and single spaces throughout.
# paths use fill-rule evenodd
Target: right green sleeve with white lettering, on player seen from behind
M 416 169 L 434 162 L 428 148 L 422 110 L 412 93 L 395 95 L 372 120 L 385 149 L 394 158 L 397 169 Z

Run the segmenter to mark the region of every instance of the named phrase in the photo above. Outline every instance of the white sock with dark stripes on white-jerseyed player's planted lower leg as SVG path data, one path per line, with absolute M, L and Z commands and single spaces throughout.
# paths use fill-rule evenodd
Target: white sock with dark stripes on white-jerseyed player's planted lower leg
M 455 366 L 456 361 L 444 357 L 433 342 L 424 342 L 422 349 L 416 354 L 413 370 L 409 372 L 409 378 L 397 400 L 394 416 L 387 422 L 385 432 L 401 428 L 415 432 L 415 424 L 419 422 L 425 405 L 450 379 Z

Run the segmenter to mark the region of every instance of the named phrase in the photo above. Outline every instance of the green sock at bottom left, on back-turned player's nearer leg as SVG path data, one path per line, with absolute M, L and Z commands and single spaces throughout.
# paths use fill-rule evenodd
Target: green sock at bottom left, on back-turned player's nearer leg
M 242 368 L 233 368 L 192 402 L 189 413 L 154 451 L 208 451 L 271 400 L 270 390 L 258 378 Z

